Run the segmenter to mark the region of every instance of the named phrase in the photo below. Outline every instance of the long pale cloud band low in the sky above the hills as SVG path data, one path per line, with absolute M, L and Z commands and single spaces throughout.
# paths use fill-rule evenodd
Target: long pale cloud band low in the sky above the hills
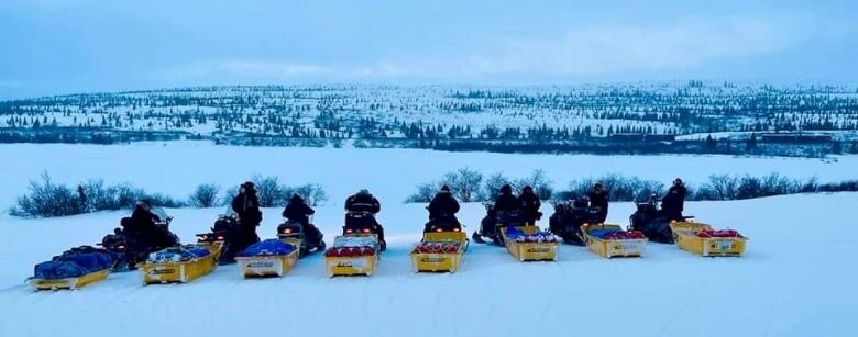
M 553 36 L 474 41 L 470 49 L 453 56 L 449 50 L 414 53 L 366 64 L 349 64 L 346 56 L 328 63 L 223 59 L 165 74 L 268 81 L 609 76 L 704 68 L 730 58 L 785 53 L 812 36 L 851 32 L 851 26 L 836 22 L 826 26 L 801 15 L 683 18 L 662 24 L 594 23 L 566 27 Z

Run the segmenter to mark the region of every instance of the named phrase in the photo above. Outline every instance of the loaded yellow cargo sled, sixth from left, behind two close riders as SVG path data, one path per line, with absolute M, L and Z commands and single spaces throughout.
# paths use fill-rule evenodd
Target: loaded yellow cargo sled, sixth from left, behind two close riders
M 502 229 L 506 250 L 519 261 L 557 260 L 558 241 L 539 226 L 515 226 Z

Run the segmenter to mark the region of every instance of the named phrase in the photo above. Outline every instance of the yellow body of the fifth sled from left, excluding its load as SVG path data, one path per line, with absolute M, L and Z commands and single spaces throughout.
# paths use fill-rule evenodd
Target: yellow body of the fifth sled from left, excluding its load
M 411 266 L 414 266 L 415 272 L 455 272 L 464 259 L 465 250 L 468 250 L 468 234 L 464 232 L 426 233 L 422 243 L 458 243 L 459 250 L 442 254 L 411 251 Z

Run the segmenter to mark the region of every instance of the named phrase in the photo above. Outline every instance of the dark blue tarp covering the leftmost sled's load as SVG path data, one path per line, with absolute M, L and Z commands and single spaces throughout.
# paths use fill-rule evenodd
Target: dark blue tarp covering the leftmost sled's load
M 108 269 L 112 265 L 113 257 L 106 252 L 74 254 L 36 265 L 34 277 L 44 280 L 77 278 Z

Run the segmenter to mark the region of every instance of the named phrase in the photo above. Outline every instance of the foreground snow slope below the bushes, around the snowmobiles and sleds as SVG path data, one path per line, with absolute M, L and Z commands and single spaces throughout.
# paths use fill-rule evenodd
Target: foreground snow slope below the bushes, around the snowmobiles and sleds
M 563 246 L 557 262 L 519 263 L 472 245 L 455 274 L 415 274 L 408 251 L 421 205 L 389 204 L 377 274 L 324 276 L 321 257 L 283 279 L 244 280 L 235 266 L 189 284 L 141 285 L 111 274 L 79 291 L 32 292 L 22 280 L 53 254 L 94 243 L 122 213 L 57 220 L 3 218 L 0 336 L 851 336 L 858 193 L 689 203 L 688 213 L 750 237 L 743 258 L 700 258 L 651 244 L 642 259 L 604 260 Z M 266 210 L 263 236 L 277 212 Z M 548 211 L 548 210 L 543 210 Z M 189 240 L 219 210 L 173 210 Z M 612 206 L 625 223 L 631 204 Z M 327 238 L 342 213 L 318 212 Z M 476 224 L 479 204 L 462 221 Z

